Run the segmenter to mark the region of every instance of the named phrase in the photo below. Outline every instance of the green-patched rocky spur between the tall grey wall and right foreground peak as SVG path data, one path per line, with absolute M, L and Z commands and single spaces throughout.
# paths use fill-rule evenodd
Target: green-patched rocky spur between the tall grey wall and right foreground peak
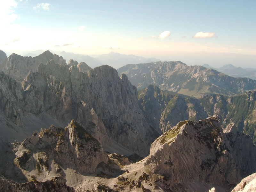
M 155 85 L 148 85 L 140 90 L 139 102 L 148 121 L 159 127 L 162 132 L 180 121 L 207 117 L 207 113 L 196 98 L 162 91 Z

